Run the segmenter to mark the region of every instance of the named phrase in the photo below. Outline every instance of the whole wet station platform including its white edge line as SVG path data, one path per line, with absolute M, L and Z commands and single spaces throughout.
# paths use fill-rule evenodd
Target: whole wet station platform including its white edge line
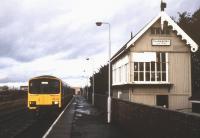
M 107 124 L 101 111 L 82 96 L 61 113 L 43 138 L 129 138 L 122 130 Z

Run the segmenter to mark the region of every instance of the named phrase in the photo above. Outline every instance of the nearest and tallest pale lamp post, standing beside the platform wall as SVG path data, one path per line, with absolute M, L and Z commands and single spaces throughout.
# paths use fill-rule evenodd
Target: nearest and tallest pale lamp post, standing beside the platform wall
M 108 118 L 107 122 L 110 123 L 111 120 L 111 94 L 110 94 L 110 58 L 111 58 L 111 38 L 110 38 L 110 23 L 108 22 L 96 22 L 97 26 L 101 26 L 102 24 L 108 25 L 109 28 L 109 49 L 108 49 L 108 55 L 109 55 L 109 65 L 108 65 L 108 105 L 107 105 L 107 112 L 108 112 Z

